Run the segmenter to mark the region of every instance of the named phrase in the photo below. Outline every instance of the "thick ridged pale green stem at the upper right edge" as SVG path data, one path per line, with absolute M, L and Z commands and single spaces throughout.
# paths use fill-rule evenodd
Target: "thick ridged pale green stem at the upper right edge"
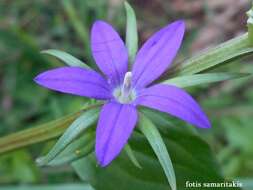
M 253 48 L 250 45 L 248 34 L 244 34 L 187 59 L 182 64 L 172 68 L 170 72 L 175 76 L 191 75 L 227 63 L 252 52 Z

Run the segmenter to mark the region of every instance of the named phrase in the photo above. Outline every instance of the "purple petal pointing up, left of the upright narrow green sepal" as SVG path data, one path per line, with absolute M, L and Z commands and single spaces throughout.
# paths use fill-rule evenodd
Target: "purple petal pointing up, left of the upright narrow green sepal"
M 127 72 L 128 53 L 124 42 L 104 21 L 96 21 L 91 31 L 91 48 L 100 70 L 118 85 Z

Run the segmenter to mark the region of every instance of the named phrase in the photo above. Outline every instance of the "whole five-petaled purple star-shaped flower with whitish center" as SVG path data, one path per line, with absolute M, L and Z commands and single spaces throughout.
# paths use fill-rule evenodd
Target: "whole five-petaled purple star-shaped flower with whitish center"
M 178 117 L 200 128 L 210 123 L 197 102 L 175 86 L 150 84 L 170 66 L 181 45 L 183 21 L 155 33 L 139 50 L 131 71 L 128 52 L 118 33 L 104 21 L 94 23 L 91 48 L 102 75 L 79 67 L 41 73 L 35 81 L 63 93 L 105 100 L 96 131 L 96 157 L 108 165 L 127 143 L 138 120 L 139 106 Z

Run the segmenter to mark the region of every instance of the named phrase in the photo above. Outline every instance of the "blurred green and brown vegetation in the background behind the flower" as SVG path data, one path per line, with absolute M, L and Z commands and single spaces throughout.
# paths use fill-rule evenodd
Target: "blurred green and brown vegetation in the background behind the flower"
M 140 45 L 157 29 L 185 19 L 187 34 L 175 63 L 246 31 L 249 0 L 129 1 L 138 19 Z M 0 1 L 0 136 L 36 126 L 79 110 L 84 99 L 37 86 L 33 78 L 63 63 L 40 54 L 60 49 L 94 66 L 89 30 L 97 19 L 112 23 L 124 38 L 121 0 Z M 252 72 L 252 59 L 219 71 Z M 253 178 L 253 79 L 244 78 L 187 89 L 213 123 L 201 133 L 228 178 Z M 185 125 L 180 123 L 180 125 Z M 0 156 L 0 184 L 79 182 L 69 166 L 38 168 L 34 160 L 52 142 Z

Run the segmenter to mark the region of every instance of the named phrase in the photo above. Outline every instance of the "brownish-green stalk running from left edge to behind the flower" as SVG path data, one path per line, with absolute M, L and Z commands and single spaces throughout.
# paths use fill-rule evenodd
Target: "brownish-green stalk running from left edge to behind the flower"
M 48 141 L 60 136 L 68 126 L 78 117 L 82 112 L 100 106 L 101 104 L 91 105 L 84 110 L 67 115 L 60 119 L 26 129 L 14 134 L 7 135 L 0 138 L 0 154 L 14 151 L 16 149 L 24 148 L 26 146 L 36 144 L 39 142 Z

